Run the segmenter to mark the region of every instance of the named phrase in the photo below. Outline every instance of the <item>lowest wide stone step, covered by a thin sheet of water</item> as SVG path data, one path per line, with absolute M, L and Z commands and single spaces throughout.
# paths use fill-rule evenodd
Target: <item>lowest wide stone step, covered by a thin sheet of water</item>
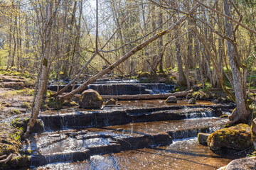
M 32 151 L 31 164 L 34 166 L 81 162 L 96 154 L 170 145 L 172 140 L 218 130 L 226 121 L 223 118 L 193 118 L 44 132 L 33 135 L 29 144 L 23 147 Z

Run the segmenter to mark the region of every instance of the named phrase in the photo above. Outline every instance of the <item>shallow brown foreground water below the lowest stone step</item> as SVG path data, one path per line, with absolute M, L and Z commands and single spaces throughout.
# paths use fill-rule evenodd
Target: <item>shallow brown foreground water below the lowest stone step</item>
M 57 163 L 39 166 L 32 169 L 84 169 L 84 170 L 215 170 L 225 166 L 238 157 L 216 155 L 197 138 L 174 140 L 171 145 L 135 149 L 114 154 L 97 154 L 90 160 L 73 163 Z

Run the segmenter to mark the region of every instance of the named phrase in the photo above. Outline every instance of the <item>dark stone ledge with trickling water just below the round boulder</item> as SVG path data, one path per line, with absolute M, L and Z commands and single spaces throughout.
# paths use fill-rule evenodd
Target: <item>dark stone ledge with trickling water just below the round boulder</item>
M 85 111 L 46 112 L 39 118 L 43 120 L 45 130 L 65 130 L 127 123 L 152 122 L 162 120 L 181 120 L 186 118 L 204 118 L 219 116 L 221 110 L 233 106 L 193 105 L 193 106 L 160 106 L 149 108 L 118 108 Z

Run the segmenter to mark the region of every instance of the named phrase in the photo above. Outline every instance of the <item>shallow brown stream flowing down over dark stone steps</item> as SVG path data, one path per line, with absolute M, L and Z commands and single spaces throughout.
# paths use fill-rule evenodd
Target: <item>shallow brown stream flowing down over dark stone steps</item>
M 31 153 L 31 169 L 210 170 L 236 158 L 214 154 L 197 141 L 198 132 L 222 128 L 228 119 L 219 116 L 234 106 L 210 101 L 188 105 L 184 100 L 118 103 L 102 109 L 75 107 L 41 113 L 44 132 L 34 133 L 23 144 L 23 151 Z

